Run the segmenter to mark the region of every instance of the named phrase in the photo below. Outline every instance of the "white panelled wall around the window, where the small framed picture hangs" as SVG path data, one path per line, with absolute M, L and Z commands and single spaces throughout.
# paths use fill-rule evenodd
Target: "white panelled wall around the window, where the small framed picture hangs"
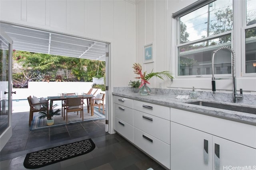
M 150 72 L 170 70 L 176 76 L 175 25 L 172 14 L 196 2 L 196 0 L 140 0 L 137 4 L 137 62 L 143 63 L 143 47 L 154 43 L 154 63 L 142 64 L 142 69 Z M 256 94 L 256 78 L 240 75 L 241 56 L 236 55 L 237 89 L 242 88 L 246 94 Z M 160 79 L 150 79 L 150 87 L 159 87 Z M 174 89 L 192 89 L 211 91 L 211 77 L 175 78 L 164 82 L 164 87 Z M 216 80 L 217 92 L 231 92 L 232 79 Z

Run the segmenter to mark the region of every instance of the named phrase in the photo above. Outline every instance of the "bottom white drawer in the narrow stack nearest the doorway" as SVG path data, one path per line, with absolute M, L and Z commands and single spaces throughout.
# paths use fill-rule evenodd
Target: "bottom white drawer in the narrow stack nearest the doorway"
M 114 129 L 133 143 L 133 126 L 115 117 Z

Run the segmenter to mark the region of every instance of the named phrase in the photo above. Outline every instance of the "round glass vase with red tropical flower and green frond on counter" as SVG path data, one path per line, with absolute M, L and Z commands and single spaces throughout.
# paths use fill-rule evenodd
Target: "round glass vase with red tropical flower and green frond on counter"
M 135 77 L 135 78 L 141 79 L 141 84 L 139 88 L 140 88 L 140 95 L 143 95 L 143 96 L 150 95 L 151 90 L 147 86 L 147 84 L 150 84 L 148 82 L 150 78 L 156 76 L 162 80 L 164 80 L 164 78 L 173 79 L 172 73 L 169 71 L 153 72 L 152 70 L 150 73 L 146 74 L 146 71 L 142 72 L 142 67 L 139 63 L 134 63 L 132 68 L 134 69 L 135 74 L 140 75 L 139 77 Z

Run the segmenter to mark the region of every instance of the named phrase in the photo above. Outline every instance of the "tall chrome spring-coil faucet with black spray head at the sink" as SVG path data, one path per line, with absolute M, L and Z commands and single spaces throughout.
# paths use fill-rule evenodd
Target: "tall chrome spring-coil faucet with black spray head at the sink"
M 240 94 L 236 93 L 236 74 L 235 74 L 235 53 L 234 50 L 231 49 L 230 47 L 224 46 L 216 49 L 213 51 L 212 55 L 212 92 L 215 94 L 216 92 L 216 86 L 215 86 L 215 77 L 214 77 L 214 55 L 222 50 L 222 49 L 227 49 L 231 52 L 231 72 L 232 72 L 232 82 L 233 82 L 233 102 L 237 103 L 237 99 L 242 99 L 243 98 L 243 90 L 240 88 Z

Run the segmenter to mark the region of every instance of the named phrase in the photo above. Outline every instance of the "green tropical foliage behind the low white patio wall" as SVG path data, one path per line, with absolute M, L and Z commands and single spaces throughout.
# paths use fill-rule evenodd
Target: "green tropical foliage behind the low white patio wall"
M 13 73 L 14 88 L 27 88 L 30 81 L 92 82 L 92 77 L 105 76 L 104 61 L 16 50 L 13 51 L 13 61 L 21 66 Z M 64 74 L 58 70 L 64 70 Z

